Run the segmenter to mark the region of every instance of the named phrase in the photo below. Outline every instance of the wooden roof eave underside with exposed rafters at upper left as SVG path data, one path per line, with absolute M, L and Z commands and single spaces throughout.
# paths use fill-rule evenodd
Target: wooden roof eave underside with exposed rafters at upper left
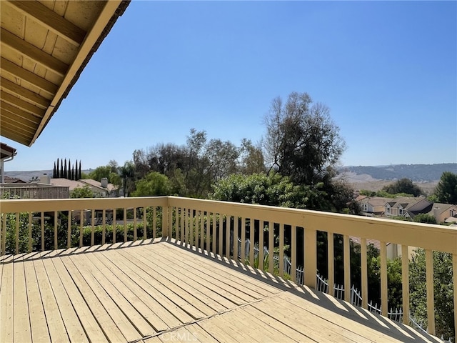
M 0 1 L 0 136 L 34 144 L 129 2 Z

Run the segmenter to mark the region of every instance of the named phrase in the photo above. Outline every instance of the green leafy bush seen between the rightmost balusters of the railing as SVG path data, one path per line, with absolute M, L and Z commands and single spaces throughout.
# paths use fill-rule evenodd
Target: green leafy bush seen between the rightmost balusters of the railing
M 433 252 L 433 292 L 435 295 L 436 336 L 456 342 L 453 307 L 452 254 Z M 411 314 L 422 327 L 427 327 L 426 254 L 416 249 L 409 264 Z M 454 294 L 456 296 L 456 294 Z

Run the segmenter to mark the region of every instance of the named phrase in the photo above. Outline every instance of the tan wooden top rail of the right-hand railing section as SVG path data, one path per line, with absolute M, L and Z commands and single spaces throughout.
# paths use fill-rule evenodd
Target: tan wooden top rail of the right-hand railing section
M 380 242 L 391 242 L 457 254 L 456 227 L 320 212 L 309 209 L 290 209 L 180 197 L 169 197 L 169 206 L 261 219 L 323 232 L 347 234 L 354 237 L 377 239 Z

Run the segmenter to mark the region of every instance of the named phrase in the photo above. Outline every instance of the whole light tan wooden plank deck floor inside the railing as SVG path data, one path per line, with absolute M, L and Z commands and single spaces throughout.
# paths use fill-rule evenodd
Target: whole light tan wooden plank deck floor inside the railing
M 0 342 L 439 342 L 174 242 L 2 260 Z

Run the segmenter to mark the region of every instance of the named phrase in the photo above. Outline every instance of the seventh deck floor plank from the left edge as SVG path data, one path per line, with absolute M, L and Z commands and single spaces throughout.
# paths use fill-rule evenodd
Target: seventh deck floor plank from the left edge
M 66 256 L 61 257 L 61 261 L 64 263 L 64 266 L 71 274 L 71 278 L 74 280 L 76 287 L 83 294 L 84 301 L 86 304 L 90 304 L 91 311 L 96 317 L 98 324 L 101 329 L 104 331 L 104 334 L 109 339 L 110 342 L 126 342 L 126 337 L 122 334 L 121 330 L 117 326 L 114 319 L 111 318 L 111 315 L 106 311 L 103 304 L 99 300 L 99 294 L 94 292 L 94 289 L 86 282 L 86 279 L 79 272 L 79 267 L 72 261 L 72 257 Z

